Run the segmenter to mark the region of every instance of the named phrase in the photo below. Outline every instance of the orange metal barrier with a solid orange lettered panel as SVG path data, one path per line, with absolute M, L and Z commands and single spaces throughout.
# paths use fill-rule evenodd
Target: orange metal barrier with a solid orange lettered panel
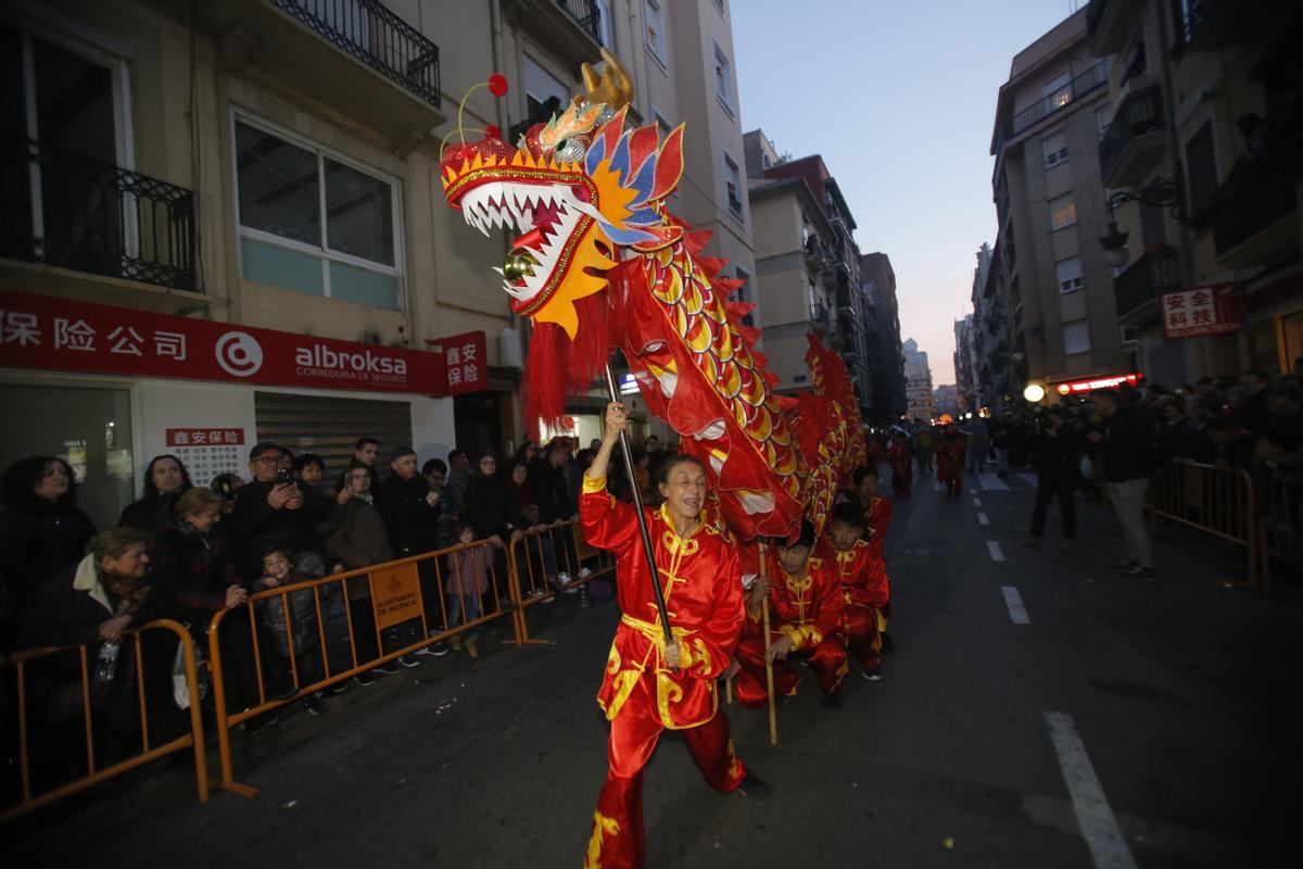
M 425 646 L 431 646 L 437 642 L 442 642 L 452 636 L 461 634 L 498 619 L 511 618 L 515 634 L 512 642 L 516 645 L 526 642 L 526 637 L 524 634 L 524 619 L 519 618 L 519 588 L 513 581 L 511 569 L 507 571 L 507 576 L 499 575 L 496 556 L 493 559 L 489 568 L 490 589 L 486 593 L 486 597 L 491 597 L 493 599 L 494 610 L 491 612 L 482 612 L 478 618 L 468 621 L 465 603 L 460 597 L 450 595 L 450 593 L 444 589 L 447 581 L 452 578 L 452 576 L 450 576 L 450 569 L 444 563 L 446 556 L 459 552 L 483 550 L 493 551 L 493 543 L 486 539 L 474 541 L 470 543 L 450 546 L 434 552 L 425 552 L 412 558 L 375 564 L 358 571 L 347 571 L 344 573 L 323 576 L 283 588 L 266 589 L 249 595 L 249 602 L 245 607 L 248 608 L 250 619 L 249 633 L 253 644 L 258 704 L 244 710 L 232 711 L 227 709 L 224 675 L 222 670 L 220 631 L 222 623 L 227 618 L 228 611 L 215 614 L 208 627 L 208 654 L 212 662 L 212 694 L 216 707 L 218 750 L 222 765 L 222 778 L 218 782 L 214 782 L 214 786 L 242 796 L 254 796 L 258 792 L 257 788 L 235 780 L 231 761 L 231 728 L 249 720 L 250 718 L 270 713 L 279 706 L 284 706 L 294 700 L 309 696 L 322 688 L 327 688 L 335 683 L 356 676 L 357 674 L 378 667 L 379 664 L 394 661 L 401 655 L 417 651 Z M 508 556 L 508 565 L 509 564 L 511 558 Z M 452 560 L 452 571 L 453 576 L 460 576 L 456 560 Z M 357 585 L 353 585 L 351 589 L 351 580 L 366 582 L 367 599 L 351 599 L 349 591 L 352 590 L 356 594 L 358 588 Z M 323 590 L 328 594 L 331 589 L 343 597 L 344 619 L 348 627 L 351 663 L 351 666 L 335 670 L 331 668 L 330 649 L 326 642 L 327 619 L 324 618 L 322 608 Z M 311 594 L 315 627 L 315 631 L 309 631 L 308 633 L 315 633 L 315 638 L 311 636 L 306 638 L 296 638 L 298 628 L 294 625 L 291 616 L 293 599 L 305 593 Z M 292 595 L 296 595 L 296 598 L 292 598 Z M 450 597 L 456 598 L 456 601 L 450 603 Z M 287 659 L 283 663 L 289 668 L 292 691 L 281 691 L 278 696 L 268 696 L 268 688 L 266 684 L 267 680 L 263 674 L 263 661 L 267 658 L 263 646 L 267 644 L 259 638 L 258 625 L 259 614 L 265 610 L 266 602 L 275 598 L 280 599 L 280 607 L 284 618 L 284 636 L 288 648 L 276 653 L 274 657 Z M 379 653 L 370 661 L 358 661 L 358 636 L 354 632 L 354 619 L 360 606 L 370 607 L 370 612 L 367 615 L 371 616 L 375 651 Z M 459 606 L 461 607 L 461 624 L 451 627 L 451 618 L 456 614 L 456 607 Z M 414 621 L 420 623 L 418 638 L 413 642 L 404 644 L 401 648 L 386 650 L 384 633 L 390 628 L 396 628 L 397 625 L 410 625 Z M 408 627 L 408 631 L 410 631 L 410 627 Z M 370 636 L 367 638 L 370 640 Z M 304 645 L 306 642 L 319 645 L 319 649 L 308 649 Z M 311 674 L 301 674 L 300 658 L 305 655 L 315 657 L 317 651 L 321 653 L 319 677 L 311 677 Z

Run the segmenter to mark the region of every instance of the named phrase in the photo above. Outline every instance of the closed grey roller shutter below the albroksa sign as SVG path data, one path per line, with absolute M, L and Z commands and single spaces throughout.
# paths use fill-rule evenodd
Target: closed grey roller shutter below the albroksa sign
M 288 447 L 294 455 L 315 452 L 326 463 L 326 482 L 348 468 L 358 438 L 380 442 L 377 464 L 388 465 L 390 451 L 412 444 L 412 405 L 284 392 L 254 392 L 258 440 Z

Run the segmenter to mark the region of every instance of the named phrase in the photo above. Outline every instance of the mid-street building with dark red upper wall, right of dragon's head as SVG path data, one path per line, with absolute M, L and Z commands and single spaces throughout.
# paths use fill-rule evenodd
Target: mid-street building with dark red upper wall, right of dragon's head
M 842 353 L 869 418 L 877 322 L 860 278 L 851 208 L 817 154 L 784 159 L 762 130 L 745 134 L 744 152 L 762 337 L 778 391 L 809 388 L 805 335 L 814 331 Z

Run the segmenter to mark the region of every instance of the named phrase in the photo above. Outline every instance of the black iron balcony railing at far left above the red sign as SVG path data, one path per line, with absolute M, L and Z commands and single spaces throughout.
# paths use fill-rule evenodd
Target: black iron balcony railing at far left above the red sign
M 27 138 L 0 158 L 0 255 L 195 289 L 194 193 Z

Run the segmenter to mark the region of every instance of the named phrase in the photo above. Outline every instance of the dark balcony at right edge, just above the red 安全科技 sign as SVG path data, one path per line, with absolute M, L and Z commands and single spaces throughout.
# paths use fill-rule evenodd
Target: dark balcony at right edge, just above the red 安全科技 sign
M 1210 225 L 1217 262 L 1227 268 L 1268 266 L 1299 254 L 1296 158 L 1276 152 L 1276 164 L 1253 165 L 1213 197 Z M 1260 163 L 1269 163 L 1264 154 Z

